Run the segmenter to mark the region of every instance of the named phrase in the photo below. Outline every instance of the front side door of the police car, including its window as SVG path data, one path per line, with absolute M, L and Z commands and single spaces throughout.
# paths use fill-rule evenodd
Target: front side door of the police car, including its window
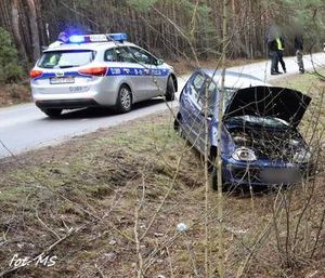
M 165 88 L 160 88 L 158 82 L 160 70 L 155 65 L 156 58 L 145 50 L 136 47 L 130 47 L 129 51 L 132 53 L 138 66 L 141 66 L 143 69 L 142 85 L 144 87 L 146 98 L 161 95 L 165 92 Z

